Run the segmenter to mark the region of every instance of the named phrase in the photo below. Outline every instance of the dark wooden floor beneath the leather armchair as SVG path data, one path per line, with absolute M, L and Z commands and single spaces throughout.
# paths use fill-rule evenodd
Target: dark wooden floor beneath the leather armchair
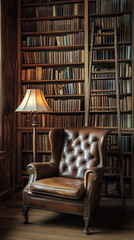
M 83 219 L 69 214 L 31 209 L 29 224 L 23 224 L 19 193 L 0 205 L 0 240 L 134 240 L 134 199 L 126 203 L 123 213 L 119 199 L 102 199 L 86 236 Z

